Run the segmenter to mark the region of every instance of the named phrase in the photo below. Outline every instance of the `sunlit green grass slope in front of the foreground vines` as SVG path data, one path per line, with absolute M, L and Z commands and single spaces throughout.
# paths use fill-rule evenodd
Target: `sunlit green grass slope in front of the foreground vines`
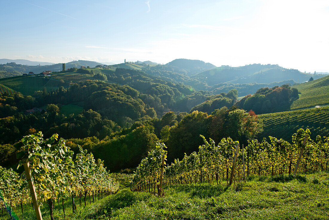
M 80 207 L 72 214 L 67 205 L 67 219 L 329 219 L 329 173 L 297 176 L 250 176 L 247 183 L 227 187 L 197 184 L 164 187 L 164 197 L 147 192 L 121 190 L 95 204 Z M 78 201 L 77 201 L 78 202 Z M 62 219 L 63 211 L 55 205 L 54 218 Z M 49 214 L 41 208 L 43 219 Z M 18 213 L 20 214 L 20 213 Z M 1 215 L 0 215 L 1 216 Z M 23 219 L 35 219 L 26 213 Z M 8 217 L 7 217 L 8 218 Z M 5 216 L 0 220 L 6 219 Z

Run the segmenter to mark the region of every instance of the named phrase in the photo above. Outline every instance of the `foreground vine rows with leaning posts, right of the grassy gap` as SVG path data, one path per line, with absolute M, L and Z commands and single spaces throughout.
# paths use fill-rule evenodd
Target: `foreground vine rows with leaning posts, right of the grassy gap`
M 292 143 L 269 137 L 270 142 L 248 141 L 245 150 L 231 138 L 223 138 L 216 146 L 213 140 L 208 142 L 201 136 L 205 144 L 199 146 L 198 153 L 185 154 L 181 161 L 176 159 L 164 168 L 164 172 L 164 162 L 161 161 L 167 152 L 163 143 L 158 144 L 139 164 L 131 190 L 162 195 L 162 184 L 218 184 L 218 180 L 223 178 L 231 185 L 232 181 L 240 182 L 243 178 L 245 181 L 246 176 L 251 174 L 296 174 L 298 166 L 303 173 L 328 170 L 329 138 L 317 136 L 314 141 L 310 135 L 308 129 L 298 129 L 292 136 Z

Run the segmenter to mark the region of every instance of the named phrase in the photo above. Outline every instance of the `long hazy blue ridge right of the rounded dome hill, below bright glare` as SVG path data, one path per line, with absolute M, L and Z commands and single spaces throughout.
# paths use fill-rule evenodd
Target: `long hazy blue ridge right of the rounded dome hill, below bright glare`
M 190 78 L 204 81 L 209 86 L 213 86 L 218 83 L 272 83 L 290 79 L 298 83 L 309 80 L 311 77 L 318 79 L 323 76 L 302 73 L 295 69 L 280 67 L 279 65 L 250 64 L 240 67 L 217 67 L 195 74 Z

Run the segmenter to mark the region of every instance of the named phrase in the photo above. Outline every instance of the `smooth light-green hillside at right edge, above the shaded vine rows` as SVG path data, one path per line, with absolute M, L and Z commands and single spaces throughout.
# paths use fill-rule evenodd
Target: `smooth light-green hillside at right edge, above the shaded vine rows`
M 291 109 L 303 109 L 329 104 L 329 76 L 292 86 L 301 93 Z

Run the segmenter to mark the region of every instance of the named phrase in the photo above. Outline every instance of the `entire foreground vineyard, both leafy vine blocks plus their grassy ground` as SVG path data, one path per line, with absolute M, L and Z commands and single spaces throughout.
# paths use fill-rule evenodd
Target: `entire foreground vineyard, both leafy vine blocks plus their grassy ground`
M 164 143 L 158 143 L 132 175 L 109 173 L 102 161 L 95 161 L 82 148 L 73 159 L 63 139 L 53 135 L 43 140 L 39 132 L 21 141 L 17 156 L 24 175 L 0 167 L 0 203 L 12 219 L 24 213 L 29 216 L 24 219 L 31 219 L 29 191 L 35 192 L 32 201 L 37 219 L 39 207 L 45 204 L 51 220 L 53 207 L 61 212 L 56 213 L 60 219 L 65 213 L 72 219 L 280 219 L 281 215 L 284 219 L 311 215 L 311 219 L 325 219 L 328 199 L 317 193 L 327 193 L 329 185 L 324 172 L 328 170 L 329 138 L 312 140 L 310 136 L 308 129 L 299 129 L 291 143 L 270 137 L 270 142 L 251 140 L 245 147 L 231 138 L 216 145 L 200 136 L 204 144 L 198 152 L 185 154 L 170 166 L 165 163 Z M 319 174 L 311 180 L 298 174 L 314 172 Z M 107 197 L 118 191 L 118 182 L 129 184 L 132 192 L 124 189 Z M 85 209 L 77 209 L 78 204 Z M 288 212 L 291 207 L 293 211 Z M 48 214 L 43 211 L 42 215 Z

